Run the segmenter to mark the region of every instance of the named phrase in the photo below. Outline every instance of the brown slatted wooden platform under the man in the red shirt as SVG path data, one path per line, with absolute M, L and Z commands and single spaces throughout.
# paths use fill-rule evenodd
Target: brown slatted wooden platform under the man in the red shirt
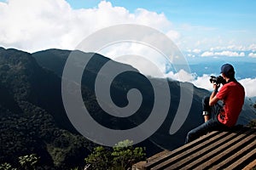
M 239 127 L 229 132 L 214 131 L 184 144 L 164 150 L 133 170 L 148 169 L 252 169 L 256 167 L 256 128 Z

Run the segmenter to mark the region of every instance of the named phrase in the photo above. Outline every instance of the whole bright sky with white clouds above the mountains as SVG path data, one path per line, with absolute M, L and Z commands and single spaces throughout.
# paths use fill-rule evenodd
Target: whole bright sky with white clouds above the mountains
M 0 47 L 30 53 L 74 49 L 98 30 L 129 23 L 163 32 L 188 60 L 230 57 L 256 63 L 255 7 L 254 0 L 0 0 Z M 143 50 L 140 53 L 146 53 Z M 119 50 L 107 54 L 119 55 Z M 156 65 L 166 71 L 165 63 Z M 137 62 L 137 66 L 150 71 L 143 63 Z M 209 76 L 179 73 L 165 72 L 166 77 L 195 84 Z M 250 81 L 241 82 L 256 83 L 256 75 L 247 78 Z M 256 96 L 256 90 L 249 95 Z

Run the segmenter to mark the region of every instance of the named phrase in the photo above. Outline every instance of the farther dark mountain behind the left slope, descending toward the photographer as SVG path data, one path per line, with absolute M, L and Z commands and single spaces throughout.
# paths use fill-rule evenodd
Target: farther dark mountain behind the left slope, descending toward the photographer
M 71 51 L 68 51 L 68 50 L 48 49 L 48 50 L 34 53 L 32 54 L 32 56 L 35 57 L 35 59 L 37 59 L 39 65 L 42 65 L 44 68 L 54 71 L 59 77 L 61 77 L 64 65 L 67 61 L 69 54 L 71 54 Z M 90 55 L 93 55 L 92 59 L 90 59 L 90 62 L 88 63 L 89 66 L 87 65 L 85 67 L 84 76 L 82 78 L 82 84 L 84 84 L 84 86 L 89 88 L 90 93 L 93 94 L 95 90 L 94 82 L 95 82 L 95 78 L 98 76 L 97 75 L 98 71 L 100 71 L 100 69 L 102 68 L 102 65 L 106 64 L 108 61 L 110 62 L 114 62 L 114 61 L 109 60 L 100 54 L 84 53 L 83 55 L 84 55 L 84 58 L 86 58 L 86 56 L 88 58 L 90 57 Z M 119 66 L 131 67 L 130 65 L 124 65 L 116 62 L 114 63 L 115 63 L 114 67 L 119 67 Z M 86 74 L 86 71 L 87 71 L 87 74 Z M 105 74 L 105 75 L 101 75 L 102 78 L 108 77 L 108 73 L 106 72 L 104 73 L 101 72 L 101 74 Z M 151 81 L 155 80 L 156 82 L 161 82 L 160 79 L 156 79 L 152 77 L 146 77 L 146 79 L 150 79 Z M 144 92 L 145 95 L 147 96 L 146 99 L 154 99 L 153 94 L 148 93 L 150 92 L 150 88 L 149 88 L 150 86 L 147 85 L 147 83 L 144 82 L 143 80 L 145 80 L 145 77 L 143 77 L 141 74 L 135 74 L 135 73 L 128 73 L 126 75 L 122 74 L 122 76 L 119 76 L 119 79 L 115 79 L 114 84 L 117 84 L 117 86 L 114 86 L 115 90 L 113 90 L 113 92 L 116 92 L 116 94 L 118 94 L 116 96 L 117 99 L 115 100 L 116 103 L 119 105 L 125 105 L 125 99 L 124 99 L 125 97 L 124 98 L 120 97 L 122 96 L 120 94 L 125 95 L 127 91 L 122 89 L 125 89 L 125 88 L 131 89 L 134 87 L 138 88 L 141 92 Z M 176 115 L 177 106 L 179 105 L 179 102 L 180 102 L 179 99 L 181 97 L 179 86 L 181 84 L 186 84 L 187 82 L 182 83 L 182 82 L 175 82 L 175 81 L 168 80 L 168 83 L 169 83 L 170 92 L 172 94 L 171 95 L 172 102 L 170 103 L 171 110 L 169 111 L 169 114 L 166 117 L 166 121 L 162 124 L 162 126 L 158 129 L 158 131 L 154 133 L 154 135 L 151 136 L 151 138 L 149 139 L 154 144 L 160 146 L 160 148 L 172 150 L 174 148 L 177 148 L 177 146 L 180 146 L 183 144 L 183 139 L 186 133 L 189 131 L 189 129 L 196 127 L 199 124 L 201 124 L 201 122 L 203 122 L 201 117 L 201 99 L 203 98 L 203 96 L 209 95 L 210 93 L 207 90 L 196 88 L 196 87 L 193 87 L 193 89 L 186 89 L 186 91 L 193 90 L 193 102 L 192 102 L 191 109 L 189 111 L 189 116 L 187 117 L 186 122 L 184 122 L 183 127 L 181 127 L 181 129 L 177 133 L 170 135 L 169 129 L 172 125 L 173 118 Z M 121 90 L 119 90 L 120 88 Z M 115 99 L 114 96 L 112 97 L 114 100 Z M 95 104 L 97 102 L 95 100 L 92 103 Z M 141 114 L 141 116 L 135 117 L 135 119 L 131 117 L 132 122 L 137 121 L 135 123 L 136 125 L 143 122 L 144 118 L 146 117 L 144 115 L 146 115 L 146 111 L 148 111 L 148 106 L 150 105 L 152 105 L 152 103 L 146 100 L 146 105 L 145 107 L 142 107 L 143 109 L 141 110 L 141 112 L 143 112 L 143 115 Z M 251 105 L 252 105 L 251 101 L 246 99 L 246 102 L 243 107 L 243 111 L 241 112 L 241 116 L 238 120 L 238 123 L 247 125 L 247 123 L 250 122 L 251 119 L 256 117 L 255 110 Z M 99 108 L 99 107 L 100 107 L 99 105 L 96 105 L 96 108 Z M 96 111 L 92 111 L 92 112 L 96 113 Z M 131 123 L 131 122 L 123 122 L 124 120 L 121 120 L 121 119 L 118 119 L 117 121 L 116 118 L 113 118 L 111 116 L 110 117 L 106 116 L 108 114 L 106 114 L 102 110 L 98 111 L 96 115 L 102 115 L 98 117 L 104 117 L 102 118 L 101 123 L 106 127 L 111 127 L 109 126 L 109 124 L 111 124 L 112 121 L 109 121 L 109 120 L 113 120 L 113 122 L 120 122 L 117 126 L 113 125 L 112 126 L 113 128 L 118 127 L 121 129 L 122 128 L 125 129 L 127 124 Z M 142 120 L 142 121 L 138 121 L 138 120 Z

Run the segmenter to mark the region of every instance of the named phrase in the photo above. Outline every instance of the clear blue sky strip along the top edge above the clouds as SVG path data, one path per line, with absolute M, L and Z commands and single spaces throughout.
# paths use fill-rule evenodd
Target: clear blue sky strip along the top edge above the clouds
M 100 0 L 67 0 L 73 8 L 96 8 Z M 164 13 L 176 24 L 218 27 L 235 31 L 254 31 L 256 24 L 256 1 L 254 0 L 109 0 L 113 6 L 125 7 L 131 12 L 146 8 Z M 254 29 L 254 30 L 253 30 Z

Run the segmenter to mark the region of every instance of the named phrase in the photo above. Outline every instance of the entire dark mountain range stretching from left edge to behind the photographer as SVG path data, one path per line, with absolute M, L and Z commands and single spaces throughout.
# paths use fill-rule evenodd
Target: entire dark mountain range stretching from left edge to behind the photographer
M 81 164 L 96 145 L 76 131 L 62 104 L 61 76 L 70 53 L 69 50 L 49 49 L 29 54 L 17 49 L 0 48 L 0 163 L 7 161 L 17 164 L 18 156 L 36 153 L 41 157 L 44 169 L 74 167 Z M 85 58 L 91 55 L 79 53 Z M 160 86 L 162 80 L 145 77 L 137 72 L 119 75 L 111 87 L 116 105 L 127 105 L 125 95 L 131 88 L 141 91 L 143 103 L 136 114 L 127 118 L 108 115 L 98 105 L 94 91 L 97 73 L 108 61 L 117 67 L 131 69 L 130 65 L 94 54 L 85 67 L 82 79 L 84 105 L 96 122 L 105 127 L 136 127 L 147 119 L 154 103 L 154 93 L 148 79 L 154 79 Z M 108 76 L 108 72 L 103 73 L 104 76 Z M 171 109 L 166 120 L 154 135 L 138 144 L 147 147 L 148 156 L 160 151 L 160 148 L 173 150 L 183 145 L 186 133 L 203 122 L 201 99 L 209 92 L 194 87 L 189 116 L 177 133 L 169 134 L 179 104 L 180 82 L 168 80 L 168 84 Z M 255 118 L 252 105 L 253 102 L 247 100 L 239 123 L 247 124 Z

